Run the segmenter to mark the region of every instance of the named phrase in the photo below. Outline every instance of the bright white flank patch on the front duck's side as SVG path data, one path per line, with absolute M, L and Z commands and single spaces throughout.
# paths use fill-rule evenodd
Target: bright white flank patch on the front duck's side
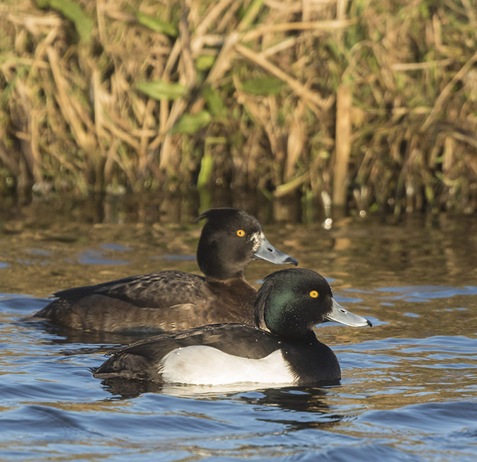
M 193 385 L 294 382 L 280 350 L 262 359 L 247 359 L 205 345 L 178 348 L 166 354 L 159 370 L 166 382 Z

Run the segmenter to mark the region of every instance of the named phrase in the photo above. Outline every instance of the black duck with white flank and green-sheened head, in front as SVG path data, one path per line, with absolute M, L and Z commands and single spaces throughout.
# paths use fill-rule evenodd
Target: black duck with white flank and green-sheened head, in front
M 254 309 L 254 325 L 205 325 L 133 343 L 114 352 L 93 376 L 200 386 L 339 383 L 338 359 L 318 340 L 314 326 L 372 325 L 340 306 L 326 279 L 305 268 L 265 277 Z

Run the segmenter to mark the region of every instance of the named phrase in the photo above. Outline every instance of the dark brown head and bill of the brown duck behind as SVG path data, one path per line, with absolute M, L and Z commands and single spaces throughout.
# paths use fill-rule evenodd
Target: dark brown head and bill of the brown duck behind
M 199 219 L 207 222 L 197 247 L 197 263 L 207 277 L 241 277 L 252 260 L 297 265 L 297 260 L 272 246 L 260 222 L 242 210 L 210 209 Z

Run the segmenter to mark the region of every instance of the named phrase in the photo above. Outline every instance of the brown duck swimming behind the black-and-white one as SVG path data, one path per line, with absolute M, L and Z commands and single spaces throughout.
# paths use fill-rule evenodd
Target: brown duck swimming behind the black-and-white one
M 64 289 L 31 319 L 63 328 L 153 335 L 212 323 L 253 323 L 257 291 L 243 277 L 253 260 L 297 265 L 272 246 L 254 216 L 209 209 L 197 246 L 204 276 L 164 270 L 101 284 Z

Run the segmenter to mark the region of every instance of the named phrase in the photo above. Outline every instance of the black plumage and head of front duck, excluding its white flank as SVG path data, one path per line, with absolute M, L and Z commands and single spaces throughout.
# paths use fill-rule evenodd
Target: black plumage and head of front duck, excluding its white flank
M 163 368 L 171 352 L 192 346 L 211 347 L 233 357 L 263 359 L 280 350 L 294 385 L 314 385 L 340 380 L 340 366 L 333 351 L 319 342 L 312 328 L 334 319 L 371 325 L 360 316 L 345 311 L 333 300 L 331 288 L 321 275 L 311 270 L 290 269 L 265 278 L 255 301 L 258 323 L 269 331 L 238 323 L 207 325 L 173 334 L 163 334 L 119 350 L 94 375 L 100 379 L 122 377 L 163 382 Z M 183 350 L 183 351 L 185 351 Z M 207 383 L 208 360 L 203 357 Z M 222 371 L 209 371 L 217 374 Z M 223 371 L 226 376 L 226 371 Z

